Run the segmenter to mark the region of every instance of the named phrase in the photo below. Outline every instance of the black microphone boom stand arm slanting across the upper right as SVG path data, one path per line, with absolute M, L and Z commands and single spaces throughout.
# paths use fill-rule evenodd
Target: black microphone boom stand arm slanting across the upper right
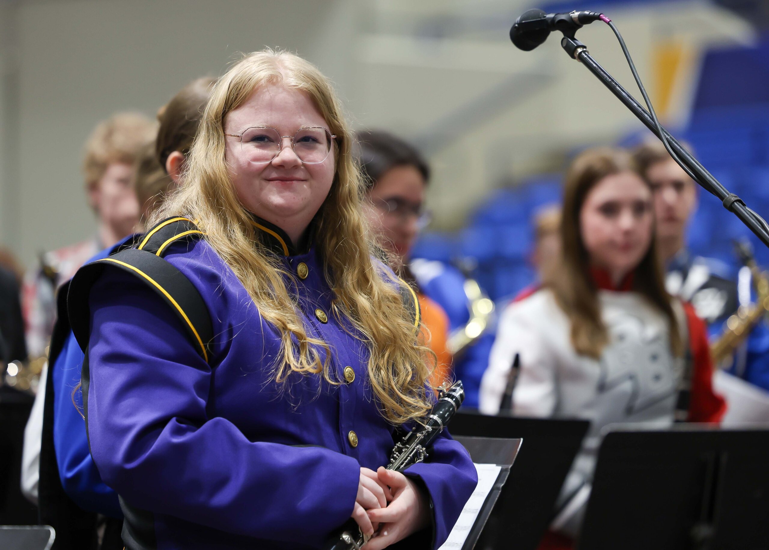
M 569 36 L 569 34 L 571 34 L 571 36 Z M 598 65 L 598 61 L 595 61 L 594 58 L 592 58 L 588 52 L 588 48 L 582 44 L 581 41 L 574 38 L 573 31 L 568 34 L 564 32 L 564 38 L 561 39 L 561 47 L 564 48 L 569 57 L 580 61 L 582 65 L 587 67 L 588 71 L 591 71 L 604 86 L 609 88 L 611 93 L 616 95 L 617 98 L 622 101 L 625 107 L 630 109 L 630 111 L 638 117 L 638 120 L 643 122 L 654 135 L 661 139 L 659 131 L 657 131 L 657 125 L 654 124 L 654 119 L 651 118 L 651 114 L 649 114 L 631 94 L 628 94 L 628 91 L 622 88 L 621 84 L 614 80 L 601 65 Z M 749 210 L 740 197 L 737 197 L 737 195 L 731 193 L 726 187 L 721 185 L 721 182 L 713 177 L 713 174 L 708 172 L 705 167 L 700 164 L 689 151 L 678 143 L 665 128 L 662 126 L 660 126 L 660 128 L 664 133 L 667 143 L 680 159 L 681 163 L 685 164 L 685 167 L 689 168 L 689 171 L 696 176 L 697 184 L 700 184 L 706 191 L 718 197 L 721 200 L 721 203 L 724 204 L 724 208 L 740 218 L 742 223 L 745 224 L 748 229 L 753 231 L 756 237 L 758 237 L 764 245 L 769 247 L 769 226 L 767 226 L 766 222 L 761 220 L 764 221 L 764 225 L 762 225 L 761 222 L 756 219 L 757 214 Z

